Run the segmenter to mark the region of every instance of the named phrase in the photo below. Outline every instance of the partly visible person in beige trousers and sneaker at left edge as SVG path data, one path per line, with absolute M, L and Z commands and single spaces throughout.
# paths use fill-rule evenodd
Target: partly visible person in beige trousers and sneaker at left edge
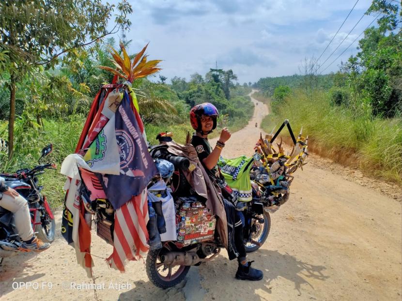
M 50 247 L 50 243 L 41 241 L 33 234 L 27 200 L 13 188 L 8 187 L 2 177 L 0 177 L 0 207 L 14 213 L 15 228 L 23 241 L 20 251 L 42 252 Z

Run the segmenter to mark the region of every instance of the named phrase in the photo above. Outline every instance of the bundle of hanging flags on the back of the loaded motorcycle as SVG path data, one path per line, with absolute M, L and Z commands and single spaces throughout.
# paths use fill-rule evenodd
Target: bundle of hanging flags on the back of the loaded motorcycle
M 149 220 L 146 186 L 158 173 L 147 150 L 144 126 L 123 85 L 105 85 L 96 95 L 77 144 L 67 156 L 62 174 L 68 177 L 62 234 L 75 248 L 77 262 L 92 275 L 91 232 L 79 194 L 80 185 L 91 200 L 107 198 L 115 210 L 110 267 L 124 271 L 127 260 L 145 256 Z

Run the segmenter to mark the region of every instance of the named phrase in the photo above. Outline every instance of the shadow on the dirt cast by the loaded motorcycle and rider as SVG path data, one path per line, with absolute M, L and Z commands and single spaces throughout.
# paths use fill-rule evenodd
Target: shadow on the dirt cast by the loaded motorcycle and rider
M 254 300 L 265 300 L 258 297 L 258 291 L 271 294 L 272 286 L 281 278 L 294 283 L 295 296 L 301 295 L 301 286 L 308 285 L 309 279 L 322 280 L 329 278 L 325 275 L 326 268 L 321 265 L 312 265 L 298 260 L 295 256 L 282 254 L 272 250 L 258 250 L 248 255 L 248 260 L 255 260 L 253 266 L 262 269 L 264 278 L 262 281 L 240 281 L 234 278 L 237 269 L 236 260 L 229 261 L 225 256 L 217 256 L 211 262 L 199 267 L 201 286 L 206 294 L 204 300 L 214 296 L 216 300 L 247 300 L 247 296 L 253 295 Z M 192 269 L 194 269 L 192 267 Z M 191 273 L 189 273 L 191 274 Z M 136 281 L 135 287 L 119 296 L 119 300 L 188 300 L 185 290 L 191 281 L 186 280 L 178 286 L 163 290 L 155 287 L 147 279 Z M 187 284 L 186 284 L 187 282 Z M 199 289 L 194 287 L 194 289 Z M 188 293 L 188 292 L 187 292 Z M 200 296 L 199 296 L 200 297 Z M 191 298 L 190 298 L 191 299 Z

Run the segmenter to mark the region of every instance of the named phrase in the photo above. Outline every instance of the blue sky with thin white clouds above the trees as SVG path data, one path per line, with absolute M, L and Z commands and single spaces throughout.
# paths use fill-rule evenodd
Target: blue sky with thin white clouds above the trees
M 111 1 L 116 3 L 117 0 Z M 134 9 L 126 38 L 130 52 L 150 42 L 150 59 L 161 59 L 161 75 L 170 79 L 209 68 L 232 69 L 238 81 L 298 74 L 301 61 L 325 49 L 355 0 L 130 0 Z M 371 0 L 359 0 L 321 62 L 339 45 Z M 334 55 L 332 62 L 373 20 L 364 16 Z M 375 23 L 373 23 L 375 24 Z M 358 41 L 358 40 L 357 40 Z M 356 54 L 351 46 L 325 73 L 337 71 L 341 60 Z

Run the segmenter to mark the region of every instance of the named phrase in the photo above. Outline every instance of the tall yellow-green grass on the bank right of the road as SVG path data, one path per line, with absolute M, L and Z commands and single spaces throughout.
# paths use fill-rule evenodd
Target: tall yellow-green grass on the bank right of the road
M 402 120 L 372 118 L 341 106 L 332 106 L 324 92 L 307 96 L 296 91 L 282 103 L 272 104 L 273 114 L 263 119 L 263 129 L 290 120 L 294 132 L 326 150 L 356 153 L 367 174 L 402 184 Z M 297 134 L 297 133 L 296 133 Z

